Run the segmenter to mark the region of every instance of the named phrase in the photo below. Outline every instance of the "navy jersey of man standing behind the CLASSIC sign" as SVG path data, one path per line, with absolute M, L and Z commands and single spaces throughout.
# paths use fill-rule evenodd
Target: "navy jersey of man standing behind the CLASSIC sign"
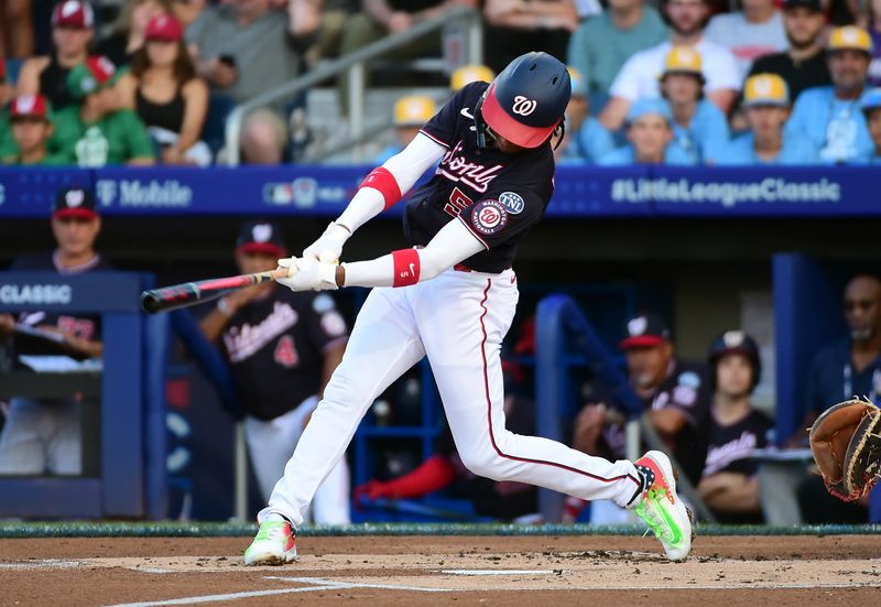
M 73 275 L 83 272 L 110 271 L 113 267 L 107 263 L 101 256 L 95 256 L 91 261 L 77 268 L 64 268 L 56 259 L 56 253 L 44 252 L 24 256 L 17 259 L 10 270 L 17 272 L 57 272 L 62 275 Z M 33 327 L 50 325 L 64 333 L 75 335 L 83 339 L 100 340 L 100 314 L 57 314 L 53 312 L 23 312 L 18 322 Z M 58 346 L 43 339 L 17 336 L 14 340 L 15 354 L 58 354 Z

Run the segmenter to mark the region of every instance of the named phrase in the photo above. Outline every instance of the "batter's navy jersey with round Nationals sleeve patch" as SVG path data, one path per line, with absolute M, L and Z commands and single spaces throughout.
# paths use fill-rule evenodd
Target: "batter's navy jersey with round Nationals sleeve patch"
M 478 272 L 511 267 L 518 242 L 544 216 L 553 193 L 551 144 L 504 154 L 488 143 L 477 147 L 474 111 L 489 85 L 459 90 L 422 129 L 447 149 L 434 176 L 410 198 L 404 232 L 413 246 L 425 246 L 458 218 L 483 243 L 463 263 Z

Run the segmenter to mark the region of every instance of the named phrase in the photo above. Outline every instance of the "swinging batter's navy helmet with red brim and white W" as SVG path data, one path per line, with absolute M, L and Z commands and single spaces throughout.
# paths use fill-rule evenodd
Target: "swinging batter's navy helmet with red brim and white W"
M 508 64 L 489 85 L 479 119 L 511 143 L 537 148 L 563 122 L 570 95 L 565 65 L 547 53 L 526 53 Z M 482 147 L 480 127 L 478 143 Z

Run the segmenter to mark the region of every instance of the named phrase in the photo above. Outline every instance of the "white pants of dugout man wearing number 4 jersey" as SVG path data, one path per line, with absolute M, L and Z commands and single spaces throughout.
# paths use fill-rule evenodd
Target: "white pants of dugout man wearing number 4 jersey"
M 263 499 L 269 500 L 275 481 L 284 474 L 284 465 L 303 434 L 309 413 L 318 404 L 317 397 L 304 400 L 296 409 L 269 421 L 244 418 L 248 454 Z M 349 524 L 349 466 L 340 458 L 318 486 L 312 503 L 312 520 L 318 524 Z

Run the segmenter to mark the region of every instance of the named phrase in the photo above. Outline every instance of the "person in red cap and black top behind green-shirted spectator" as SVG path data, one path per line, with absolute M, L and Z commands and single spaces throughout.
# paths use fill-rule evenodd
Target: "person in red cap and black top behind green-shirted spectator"
M 32 57 L 19 74 L 19 94 L 44 95 L 55 111 L 75 105 L 67 86 L 70 69 L 86 62 L 95 37 L 95 12 L 84 0 L 64 0 L 52 11 L 51 56 Z

